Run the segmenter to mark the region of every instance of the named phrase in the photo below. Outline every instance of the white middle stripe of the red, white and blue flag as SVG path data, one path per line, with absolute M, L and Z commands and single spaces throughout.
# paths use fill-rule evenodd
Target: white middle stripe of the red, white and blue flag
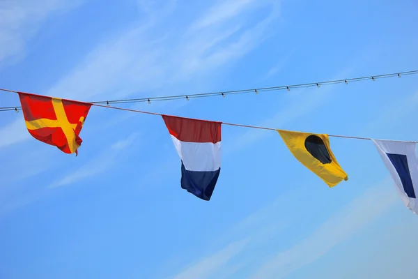
M 182 142 L 171 135 L 178 156 L 185 169 L 195 172 L 213 172 L 221 167 L 221 142 Z

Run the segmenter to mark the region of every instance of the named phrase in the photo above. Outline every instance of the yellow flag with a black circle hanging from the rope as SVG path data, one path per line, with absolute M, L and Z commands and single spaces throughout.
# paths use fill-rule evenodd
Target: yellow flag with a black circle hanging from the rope
M 328 135 L 277 130 L 293 156 L 328 186 L 333 187 L 348 180 L 346 172 L 336 161 L 330 149 Z

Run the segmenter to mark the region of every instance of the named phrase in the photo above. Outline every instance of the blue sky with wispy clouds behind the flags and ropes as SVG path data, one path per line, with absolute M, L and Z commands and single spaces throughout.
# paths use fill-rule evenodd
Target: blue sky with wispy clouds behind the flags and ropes
M 0 86 L 76 100 L 416 70 L 418 4 L 0 3 Z M 1 106 L 19 104 L 0 94 Z M 304 132 L 417 140 L 417 77 L 125 105 Z M 278 133 L 223 126 L 210 202 L 180 188 L 159 116 L 93 107 L 79 156 L 0 117 L 0 278 L 414 278 L 417 216 L 369 141 L 331 138 L 328 188 Z

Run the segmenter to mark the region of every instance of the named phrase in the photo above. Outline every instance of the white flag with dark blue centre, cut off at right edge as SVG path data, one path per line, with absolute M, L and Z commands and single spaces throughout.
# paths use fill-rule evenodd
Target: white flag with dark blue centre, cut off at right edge
M 373 140 L 380 157 L 395 182 L 403 204 L 418 214 L 418 160 L 415 142 Z

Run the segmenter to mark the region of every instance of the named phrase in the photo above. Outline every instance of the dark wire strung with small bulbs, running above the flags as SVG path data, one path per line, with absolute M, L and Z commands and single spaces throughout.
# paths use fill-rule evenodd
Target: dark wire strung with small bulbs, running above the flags
M 84 102 L 84 103 L 91 103 L 91 104 L 110 104 L 110 103 L 142 103 L 142 102 L 149 102 L 152 101 L 165 101 L 165 100 L 178 100 L 186 98 L 203 98 L 203 97 L 211 97 L 211 96 L 226 96 L 226 95 L 235 95 L 235 94 L 243 94 L 243 93 L 258 93 L 258 92 L 266 92 L 266 91 L 279 91 L 285 89 L 295 89 L 295 88 L 303 88 L 303 87 L 311 87 L 311 86 L 320 86 L 320 85 L 327 85 L 327 84 L 341 84 L 348 82 L 359 82 L 364 80 L 377 80 L 381 78 L 388 78 L 388 77 L 401 77 L 401 75 L 416 75 L 418 74 L 418 70 L 410 70 L 406 72 L 398 72 L 398 73 L 389 73 L 383 75 L 371 75 L 366 77 L 352 77 L 343 80 L 328 80 L 325 82 L 311 82 L 311 83 L 304 83 L 304 84 L 293 84 L 293 85 L 282 85 L 282 86 L 272 86 L 272 87 L 262 87 L 262 88 L 255 88 L 255 89 L 240 89 L 240 90 L 230 90 L 230 91 L 218 91 L 218 92 L 210 92 L 210 93 L 194 93 L 194 94 L 185 94 L 185 95 L 174 95 L 174 96 L 160 96 L 160 97 L 150 97 L 150 98 L 131 98 L 131 99 L 121 99 L 121 100 L 101 100 L 95 102 Z M 9 90 L 9 89 L 0 89 L 0 91 L 6 92 L 13 92 L 19 93 L 19 91 Z M 21 109 L 22 107 L 0 107 L 0 112 L 11 111 L 16 109 Z

